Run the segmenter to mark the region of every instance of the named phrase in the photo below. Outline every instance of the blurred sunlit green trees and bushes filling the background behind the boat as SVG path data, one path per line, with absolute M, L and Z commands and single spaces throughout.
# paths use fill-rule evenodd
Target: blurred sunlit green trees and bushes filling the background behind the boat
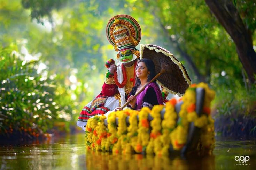
M 256 4 L 234 3 L 255 50 Z M 139 22 L 140 44 L 168 49 L 192 83 L 216 91 L 215 114 L 255 116 L 255 84 L 203 0 L 0 0 L 0 135 L 37 136 L 76 123 L 101 90 L 104 62 L 116 56 L 105 28 L 117 14 Z

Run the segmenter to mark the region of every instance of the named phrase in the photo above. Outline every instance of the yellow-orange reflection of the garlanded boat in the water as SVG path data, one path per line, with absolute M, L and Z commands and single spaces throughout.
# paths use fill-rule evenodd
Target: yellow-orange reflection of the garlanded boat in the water
M 102 152 L 86 152 L 86 164 L 89 170 L 161 170 L 161 169 L 215 169 L 214 156 L 201 159 L 185 159 L 180 156 L 174 158 L 152 155 L 110 155 Z

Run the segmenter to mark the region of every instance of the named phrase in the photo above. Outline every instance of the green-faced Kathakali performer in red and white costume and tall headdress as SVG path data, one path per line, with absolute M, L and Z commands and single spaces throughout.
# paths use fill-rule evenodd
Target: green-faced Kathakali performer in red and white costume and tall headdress
M 135 68 L 140 55 L 135 47 L 141 39 L 138 22 L 128 15 L 116 15 L 109 20 L 106 34 L 115 51 L 118 51 L 117 64 L 113 59 L 106 62 L 108 71 L 102 91 L 82 109 L 78 118 L 77 125 L 83 130 L 90 117 L 124 105 L 135 85 Z

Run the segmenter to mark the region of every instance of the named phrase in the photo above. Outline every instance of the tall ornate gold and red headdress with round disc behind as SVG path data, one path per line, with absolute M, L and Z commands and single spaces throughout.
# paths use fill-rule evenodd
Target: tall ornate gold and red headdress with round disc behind
M 138 22 L 129 15 L 116 15 L 112 17 L 106 27 L 108 41 L 112 44 L 120 59 L 120 51 L 130 49 L 133 53 L 133 60 L 139 58 L 139 51 L 135 49 L 141 39 L 141 29 Z

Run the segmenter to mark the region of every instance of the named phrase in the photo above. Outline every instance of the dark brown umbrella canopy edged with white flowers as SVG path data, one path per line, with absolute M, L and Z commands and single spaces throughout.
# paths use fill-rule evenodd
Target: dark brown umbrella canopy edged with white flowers
M 155 64 L 156 74 L 165 71 L 156 78 L 156 82 L 169 93 L 183 96 L 191 84 L 185 67 L 168 50 L 157 45 L 140 45 L 140 58 L 150 59 Z

